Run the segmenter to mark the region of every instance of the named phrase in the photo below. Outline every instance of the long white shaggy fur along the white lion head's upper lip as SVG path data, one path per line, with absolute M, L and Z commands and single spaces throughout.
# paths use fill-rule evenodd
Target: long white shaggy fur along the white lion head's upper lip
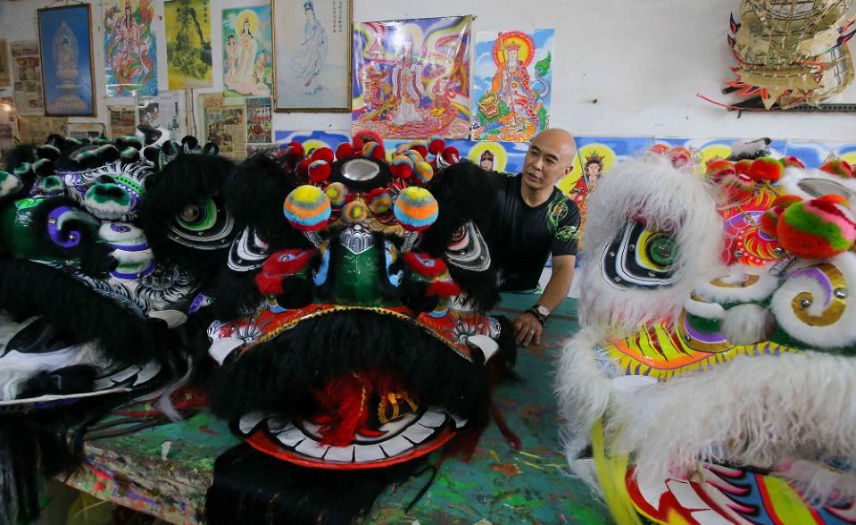
M 634 454 L 644 483 L 699 460 L 769 468 L 835 458 L 852 469 L 856 360 L 815 352 L 737 357 L 632 396 L 613 392 L 606 435 L 612 453 Z M 852 475 L 802 479 L 818 501 L 856 495 Z

